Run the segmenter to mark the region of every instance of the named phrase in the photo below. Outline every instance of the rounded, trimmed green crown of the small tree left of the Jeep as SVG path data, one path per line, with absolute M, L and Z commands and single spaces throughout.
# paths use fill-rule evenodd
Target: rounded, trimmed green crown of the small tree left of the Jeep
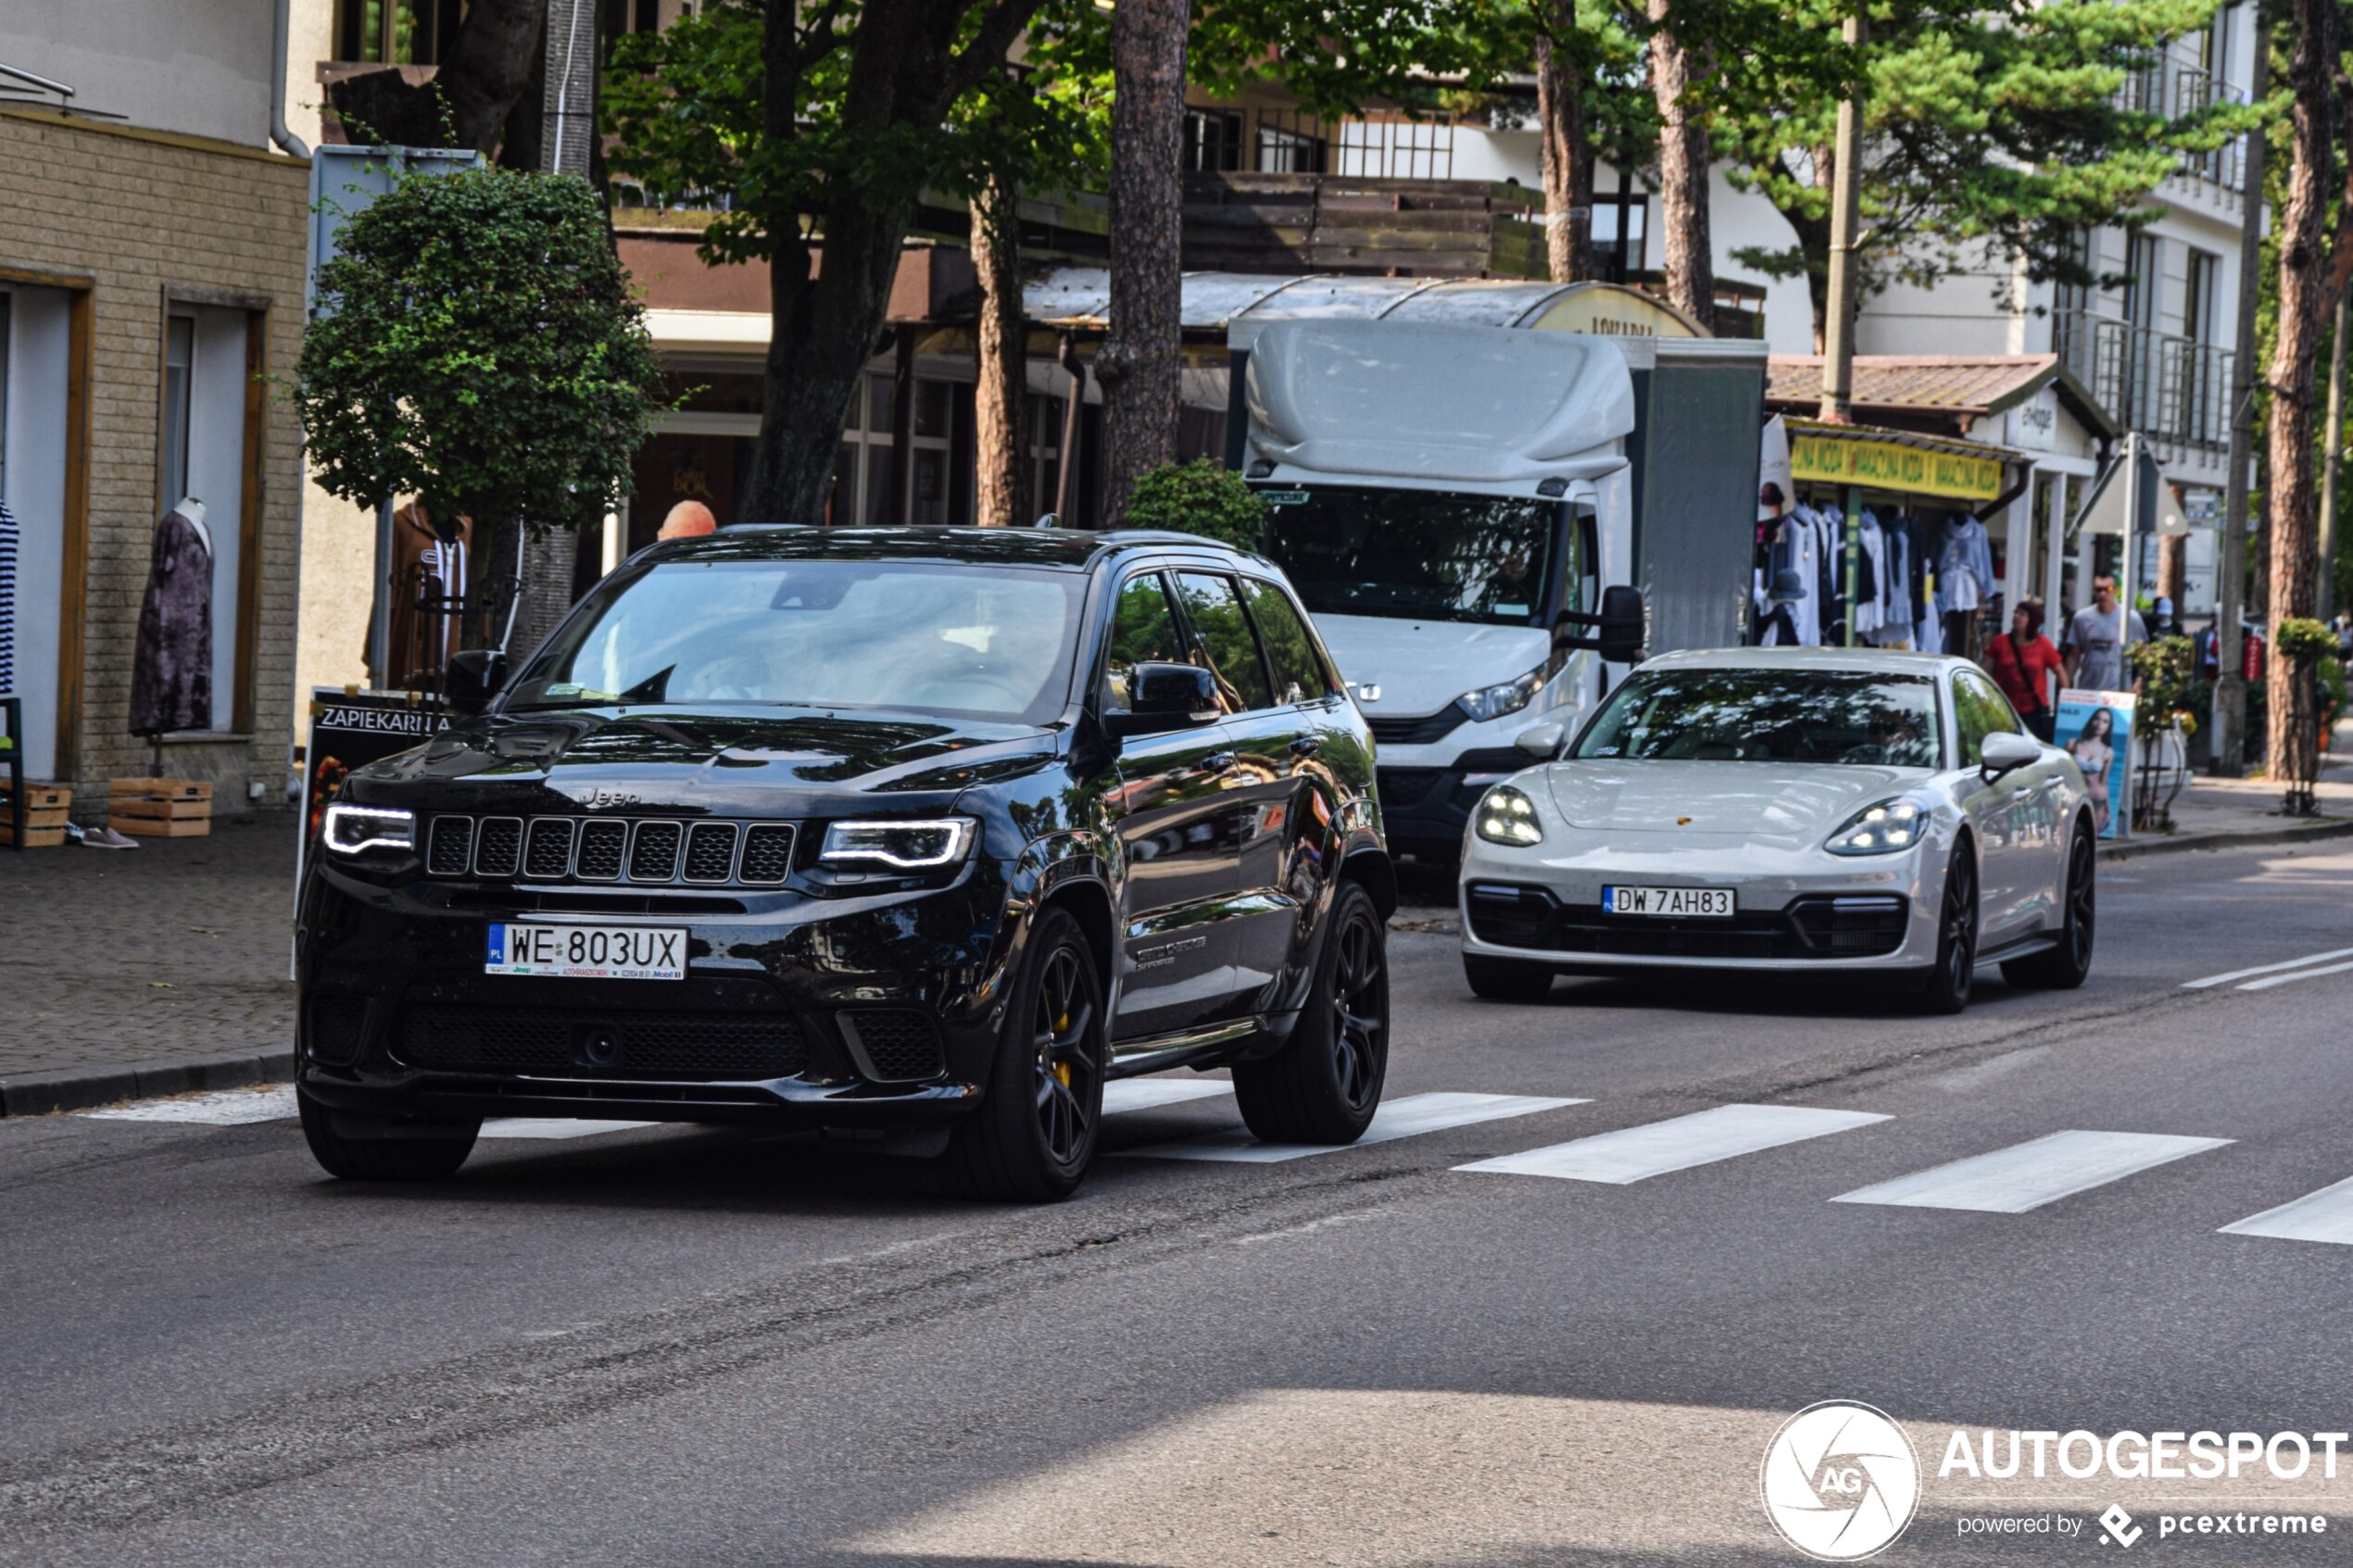
M 586 183 L 409 174 L 339 247 L 294 371 L 320 487 L 534 531 L 628 496 L 659 369 Z

